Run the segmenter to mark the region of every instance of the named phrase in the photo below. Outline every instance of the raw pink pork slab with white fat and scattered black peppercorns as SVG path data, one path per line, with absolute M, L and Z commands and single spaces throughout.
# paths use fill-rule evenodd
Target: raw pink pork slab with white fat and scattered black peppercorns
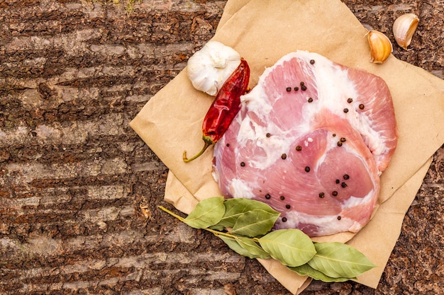
M 309 236 L 367 224 L 397 141 L 381 78 L 298 51 L 265 69 L 241 100 L 214 149 L 223 195 L 270 204 L 281 212 L 276 229 Z

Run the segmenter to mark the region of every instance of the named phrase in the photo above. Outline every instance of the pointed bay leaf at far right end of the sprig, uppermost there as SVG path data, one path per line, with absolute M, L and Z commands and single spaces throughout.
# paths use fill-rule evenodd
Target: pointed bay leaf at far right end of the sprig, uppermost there
M 350 245 L 330 242 L 314 243 L 316 255 L 308 262 L 328 277 L 357 277 L 375 265 Z

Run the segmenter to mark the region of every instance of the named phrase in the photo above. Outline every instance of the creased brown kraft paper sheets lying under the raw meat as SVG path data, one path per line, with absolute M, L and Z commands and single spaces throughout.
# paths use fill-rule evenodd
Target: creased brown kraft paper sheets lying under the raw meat
M 404 214 L 431 156 L 444 141 L 444 81 L 392 56 L 382 65 L 370 63 L 366 33 L 340 1 L 230 0 L 213 40 L 235 48 L 248 60 L 250 87 L 255 86 L 266 66 L 294 50 L 318 52 L 334 62 L 366 69 L 389 85 L 399 144 L 382 174 L 379 208 L 356 236 L 344 233 L 323 238 L 348 241 L 378 265 L 357 278 L 357 282 L 376 288 Z M 211 101 L 194 90 L 184 70 L 152 97 L 130 124 L 170 168 L 165 199 L 184 213 L 199 200 L 220 195 L 211 176 L 211 149 L 191 163 L 182 161 L 184 149 L 189 154 L 201 149 L 201 120 Z M 260 262 L 293 294 L 299 294 L 310 282 L 277 261 Z

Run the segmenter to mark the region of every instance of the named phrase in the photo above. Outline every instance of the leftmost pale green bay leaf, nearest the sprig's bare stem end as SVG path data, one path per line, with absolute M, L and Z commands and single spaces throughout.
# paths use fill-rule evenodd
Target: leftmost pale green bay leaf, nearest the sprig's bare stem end
M 184 219 L 184 223 L 194 229 L 204 229 L 221 221 L 223 214 L 223 197 L 210 197 L 197 203 L 194 210 Z

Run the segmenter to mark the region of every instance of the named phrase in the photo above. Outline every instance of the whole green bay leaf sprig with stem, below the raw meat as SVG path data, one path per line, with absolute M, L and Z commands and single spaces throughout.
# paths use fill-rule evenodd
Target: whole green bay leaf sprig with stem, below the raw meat
M 279 260 L 301 276 L 345 282 L 375 267 L 350 245 L 313 242 L 299 229 L 272 231 L 279 212 L 253 199 L 211 197 L 199 202 L 185 218 L 159 208 L 194 229 L 210 231 L 240 255 Z

